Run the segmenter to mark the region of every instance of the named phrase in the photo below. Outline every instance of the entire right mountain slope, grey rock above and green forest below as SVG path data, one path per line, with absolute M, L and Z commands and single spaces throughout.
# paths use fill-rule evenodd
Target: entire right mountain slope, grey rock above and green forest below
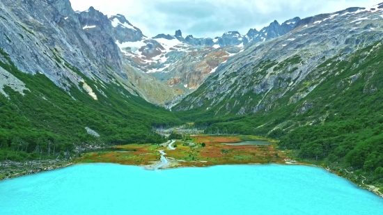
M 219 65 L 172 110 L 208 132 L 279 139 L 298 159 L 382 187 L 382 17 L 380 3 L 299 20 Z

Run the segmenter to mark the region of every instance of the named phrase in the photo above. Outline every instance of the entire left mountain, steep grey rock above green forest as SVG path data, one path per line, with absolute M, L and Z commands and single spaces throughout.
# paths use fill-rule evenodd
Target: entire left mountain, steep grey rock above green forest
M 144 99 L 140 77 L 153 79 L 146 86 L 157 95 L 168 86 L 134 73 L 97 10 L 4 0 L 0 29 L 0 145 L 17 151 L 0 150 L 2 159 L 36 159 L 47 144 L 56 158 L 95 145 L 160 143 L 153 126 L 182 123 Z

